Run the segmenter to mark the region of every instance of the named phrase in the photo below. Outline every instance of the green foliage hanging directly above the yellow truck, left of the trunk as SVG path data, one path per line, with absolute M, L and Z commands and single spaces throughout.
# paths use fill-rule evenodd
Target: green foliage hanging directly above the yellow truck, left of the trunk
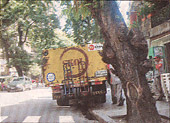
M 85 44 L 89 41 L 94 43 L 104 42 L 100 28 L 92 18 L 89 8 L 87 8 L 91 5 L 98 7 L 98 2 L 95 3 L 85 3 L 84 1 L 76 1 L 74 4 L 70 1 L 61 3 L 65 8 L 63 15 L 67 15 L 64 31 L 69 37 L 73 37 L 74 42 L 77 44 Z

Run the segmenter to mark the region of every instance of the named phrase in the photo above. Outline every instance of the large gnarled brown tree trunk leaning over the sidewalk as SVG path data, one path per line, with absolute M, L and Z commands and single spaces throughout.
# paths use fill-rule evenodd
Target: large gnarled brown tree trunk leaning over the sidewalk
M 115 1 L 89 8 L 105 39 L 103 60 L 113 65 L 123 83 L 128 122 L 161 122 L 145 78 L 148 49 L 143 35 L 138 29 L 128 30 Z

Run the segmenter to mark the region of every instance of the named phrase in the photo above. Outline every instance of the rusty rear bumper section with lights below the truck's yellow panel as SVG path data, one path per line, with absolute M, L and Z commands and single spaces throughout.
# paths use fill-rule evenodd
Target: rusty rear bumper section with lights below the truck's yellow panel
M 106 85 L 105 83 L 97 83 L 97 85 L 88 85 L 88 86 L 79 86 L 70 88 L 64 87 L 64 85 L 60 86 L 52 86 L 52 97 L 53 100 L 61 99 L 62 97 L 66 97 L 68 99 L 82 99 L 85 97 L 93 98 L 100 95 L 105 95 Z M 84 90 L 86 88 L 86 90 Z

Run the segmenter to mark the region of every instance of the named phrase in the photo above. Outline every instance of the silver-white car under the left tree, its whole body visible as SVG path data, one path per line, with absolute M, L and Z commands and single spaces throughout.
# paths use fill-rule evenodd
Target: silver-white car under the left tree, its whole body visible
M 25 91 L 26 89 L 32 89 L 32 81 L 29 77 L 17 77 L 14 78 L 7 86 L 7 91 Z

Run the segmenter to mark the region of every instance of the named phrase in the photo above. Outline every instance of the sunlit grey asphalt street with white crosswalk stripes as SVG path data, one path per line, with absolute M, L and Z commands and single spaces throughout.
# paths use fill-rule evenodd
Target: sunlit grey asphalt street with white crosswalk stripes
M 51 88 L 38 87 L 24 92 L 0 92 L 0 122 L 17 123 L 96 123 L 75 106 L 58 106 Z

